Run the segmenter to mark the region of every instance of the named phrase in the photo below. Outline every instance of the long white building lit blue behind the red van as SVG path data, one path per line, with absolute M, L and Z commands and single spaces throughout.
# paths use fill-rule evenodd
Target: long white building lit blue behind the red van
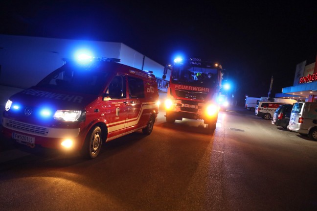
M 63 58 L 73 58 L 79 49 L 90 49 L 93 56 L 119 58 L 122 64 L 142 68 L 144 55 L 122 43 L 0 35 L 0 85 L 33 86 L 61 67 Z M 161 77 L 164 67 L 145 57 L 144 70 Z

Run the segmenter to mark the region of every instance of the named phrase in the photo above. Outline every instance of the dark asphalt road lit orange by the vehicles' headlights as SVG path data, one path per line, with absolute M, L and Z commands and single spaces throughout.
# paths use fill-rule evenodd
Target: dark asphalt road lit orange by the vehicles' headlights
M 165 122 L 97 159 L 0 142 L 0 210 L 317 210 L 317 141 L 243 109 Z

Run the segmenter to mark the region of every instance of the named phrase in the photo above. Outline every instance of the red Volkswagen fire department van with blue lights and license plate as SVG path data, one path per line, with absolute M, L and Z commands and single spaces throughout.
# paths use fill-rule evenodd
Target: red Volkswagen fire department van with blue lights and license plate
M 3 112 L 4 136 L 31 147 L 81 150 L 92 159 L 103 141 L 140 129 L 151 134 L 158 116 L 156 77 L 119 61 L 69 61 L 14 94 Z

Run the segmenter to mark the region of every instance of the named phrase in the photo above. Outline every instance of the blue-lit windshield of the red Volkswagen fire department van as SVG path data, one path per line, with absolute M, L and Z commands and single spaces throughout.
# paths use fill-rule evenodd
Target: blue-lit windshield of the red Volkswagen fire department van
M 98 69 L 98 67 L 66 64 L 47 75 L 37 86 L 68 92 L 99 94 L 109 73 Z

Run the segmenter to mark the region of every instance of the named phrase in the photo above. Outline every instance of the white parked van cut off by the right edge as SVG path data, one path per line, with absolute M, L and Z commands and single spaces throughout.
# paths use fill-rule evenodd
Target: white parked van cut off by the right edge
M 287 129 L 317 141 L 317 103 L 295 103 Z

